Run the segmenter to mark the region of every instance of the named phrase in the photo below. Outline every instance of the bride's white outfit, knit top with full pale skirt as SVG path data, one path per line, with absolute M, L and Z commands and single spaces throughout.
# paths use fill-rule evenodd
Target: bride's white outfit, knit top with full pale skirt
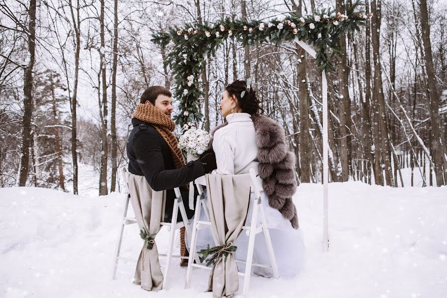
M 226 120 L 228 125 L 219 129 L 214 135 L 213 149 L 216 153 L 217 169 L 213 171 L 213 174 L 246 174 L 249 173 L 250 168 L 253 168 L 257 174 L 257 147 L 251 116 L 246 113 L 234 113 L 226 116 Z M 258 179 L 259 189 L 262 190 L 262 179 L 259 177 Z M 206 192 L 204 195 L 206 196 Z M 289 220 L 285 219 L 278 210 L 269 206 L 264 191 L 261 192 L 261 201 L 267 218 L 279 275 L 280 277 L 293 277 L 299 273 L 304 265 L 305 246 L 301 230 L 294 229 Z M 251 208 L 252 204 L 250 204 L 246 223 L 251 222 Z M 201 220 L 205 220 L 203 211 L 201 212 Z M 191 243 L 190 239 L 186 243 L 189 245 Z M 208 244 L 211 247 L 215 246 L 211 229 L 199 230 L 197 250 L 206 248 Z M 234 245 L 237 246 L 234 253 L 236 260 L 245 260 L 248 248 L 248 236 L 245 231 L 241 232 Z M 253 262 L 270 264 L 263 233 L 258 233 L 255 237 Z M 238 270 L 243 272 L 245 265 L 238 263 Z M 252 273 L 265 277 L 273 276 L 270 269 L 257 266 L 252 267 Z

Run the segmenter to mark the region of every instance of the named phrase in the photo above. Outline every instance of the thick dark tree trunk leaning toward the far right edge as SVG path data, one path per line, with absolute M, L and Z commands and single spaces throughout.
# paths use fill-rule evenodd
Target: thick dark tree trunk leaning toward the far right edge
M 421 28 L 422 40 L 425 51 L 425 67 L 427 69 L 427 84 L 430 94 L 430 119 L 432 123 L 432 148 L 435 163 L 436 185 L 446 185 L 444 168 L 447 169 L 446 142 L 441 131 L 441 120 L 439 117 L 439 96 L 436 90 L 436 78 L 433 68 L 432 44 L 430 41 L 430 25 L 427 9 L 427 0 L 421 0 Z

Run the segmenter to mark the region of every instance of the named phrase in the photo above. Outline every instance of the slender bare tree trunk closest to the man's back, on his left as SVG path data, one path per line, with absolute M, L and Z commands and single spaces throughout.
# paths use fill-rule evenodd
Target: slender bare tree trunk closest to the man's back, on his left
M 110 115 L 110 133 L 112 137 L 112 185 L 110 191 L 115 191 L 117 165 L 117 141 L 116 141 L 116 72 L 118 65 L 118 0 L 114 0 L 114 24 L 113 24 L 113 67 L 112 67 L 112 111 Z

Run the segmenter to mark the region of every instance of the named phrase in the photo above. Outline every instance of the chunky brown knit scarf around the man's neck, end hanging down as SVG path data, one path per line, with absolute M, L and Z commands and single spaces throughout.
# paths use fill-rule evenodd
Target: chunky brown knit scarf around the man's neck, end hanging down
M 171 118 L 150 103 L 138 103 L 137 111 L 135 111 L 132 117 L 152 124 L 161 137 L 163 137 L 169 149 L 171 149 L 171 156 L 176 169 L 181 168 L 185 164 L 182 150 L 177 147 L 178 141 L 172 133 L 175 129 L 175 123 Z M 185 243 L 185 227 L 180 229 L 180 255 L 189 256 Z M 180 266 L 185 266 L 187 263 L 187 259 L 181 259 Z

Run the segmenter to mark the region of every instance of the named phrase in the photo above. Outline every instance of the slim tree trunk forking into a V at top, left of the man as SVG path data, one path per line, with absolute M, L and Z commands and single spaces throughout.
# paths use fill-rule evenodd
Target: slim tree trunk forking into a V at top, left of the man
M 73 193 L 77 195 L 77 122 L 76 122 L 76 107 L 77 107 L 77 82 L 79 77 L 79 52 L 80 52 L 80 16 L 79 16 L 79 0 L 76 1 L 76 18 L 74 17 L 74 10 L 72 0 L 69 0 L 70 11 L 72 14 L 74 34 L 76 35 L 76 52 L 74 54 L 74 85 L 73 98 L 71 100 L 72 110 L 72 161 L 73 161 Z

